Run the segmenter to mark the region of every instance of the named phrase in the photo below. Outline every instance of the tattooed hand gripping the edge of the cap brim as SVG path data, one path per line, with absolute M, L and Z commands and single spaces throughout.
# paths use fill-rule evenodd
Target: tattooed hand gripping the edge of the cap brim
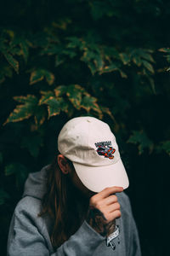
M 109 236 L 115 230 L 116 218 L 121 217 L 120 204 L 115 193 L 122 191 L 122 187 L 108 187 L 89 200 L 86 221 L 101 236 Z

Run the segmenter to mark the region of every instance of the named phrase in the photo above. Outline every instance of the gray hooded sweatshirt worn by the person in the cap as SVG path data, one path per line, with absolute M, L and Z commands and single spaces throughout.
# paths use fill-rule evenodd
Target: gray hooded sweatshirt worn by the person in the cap
M 37 217 L 42 210 L 46 167 L 31 172 L 26 179 L 8 230 L 8 256 L 141 256 L 139 234 L 125 192 L 116 193 L 122 216 L 116 219 L 117 229 L 111 235 L 111 242 L 84 220 L 76 233 L 54 250 L 49 237 L 54 223 L 48 215 Z

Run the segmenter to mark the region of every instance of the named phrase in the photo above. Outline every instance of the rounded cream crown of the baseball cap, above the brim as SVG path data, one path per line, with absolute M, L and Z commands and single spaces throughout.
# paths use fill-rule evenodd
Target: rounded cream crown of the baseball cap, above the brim
M 58 149 L 69 160 L 87 166 L 107 166 L 120 159 L 110 126 L 90 116 L 71 119 L 63 126 Z

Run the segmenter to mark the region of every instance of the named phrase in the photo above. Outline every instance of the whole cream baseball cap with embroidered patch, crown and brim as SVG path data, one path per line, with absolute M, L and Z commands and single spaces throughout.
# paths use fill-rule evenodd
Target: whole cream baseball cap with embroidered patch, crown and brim
M 88 189 L 100 192 L 106 187 L 129 186 L 116 137 L 104 121 L 91 116 L 70 119 L 59 132 L 58 149 L 72 161 Z

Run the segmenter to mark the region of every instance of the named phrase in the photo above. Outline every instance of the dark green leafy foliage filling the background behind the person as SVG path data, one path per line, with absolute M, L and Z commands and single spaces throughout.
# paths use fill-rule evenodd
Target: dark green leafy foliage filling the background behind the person
M 5 1 L 0 8 L 0 237 L 68 119 L 111 125 L 143 255 L 167 255 L 170 2 Z

